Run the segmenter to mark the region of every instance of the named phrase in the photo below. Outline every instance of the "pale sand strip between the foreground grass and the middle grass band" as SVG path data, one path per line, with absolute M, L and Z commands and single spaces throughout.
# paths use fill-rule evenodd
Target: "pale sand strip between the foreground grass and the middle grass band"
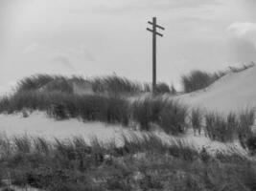
M 130 135 L 135 134 L 141 136 L 147 134 L 118 125 L 105 125 L 101 122 L 81 122 L 78 119 L 69 119 L 57 121 L 46 117 L 44 113 L 35 112 L 30 117 L 22 117 L 16 115 L 0 115 L 0 135 L 12 138 L 13 136 L 31 136 L 53 140 L 68 139 L 72 137 L 82 137 L 88 143 L 91 138 L 99 138 L 103 142 L 115 141 L 118 146 L 122 145 L 123 136 L 130 138 Z M 229 143 L 224 144 L 218 141 L 212 141 L 204 136 L 194 136 L 192 132 L 181 137 L 168 136 L 164 132 L 154 131 L 153 134 L 161 138 L 166 143 L 175 143 L 177 140 L 190 147 L 198 148 L 205 147 L 210 153 L 217 151 L 231 152 L 231 149 L 236 149 L 238 152 L 245 154 L 245 151 L 239 144 Z

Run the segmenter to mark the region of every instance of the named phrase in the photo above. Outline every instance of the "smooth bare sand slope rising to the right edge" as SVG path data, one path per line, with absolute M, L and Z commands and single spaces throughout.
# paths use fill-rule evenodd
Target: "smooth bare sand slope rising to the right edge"
M 223 113 L 255 107 L 256 66 L 241 73 L 227 74 L 205 90 L 178 96 L 178 99 L 191 106 Z

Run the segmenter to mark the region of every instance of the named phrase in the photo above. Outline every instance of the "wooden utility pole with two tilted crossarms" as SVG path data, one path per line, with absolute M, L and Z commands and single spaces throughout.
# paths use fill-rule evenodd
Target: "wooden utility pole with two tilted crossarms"
M 157 28 L 165 30 L 163 27 L 157 25 L 156 17 L 152 17 L 152 22 L 148 21 L 152 26 L 152 30 L 147 28 L 149 32 L 152 32 L 152 93 L 156 91 L 156 35 L 163 36 L 163 34 L 157 32 Z

